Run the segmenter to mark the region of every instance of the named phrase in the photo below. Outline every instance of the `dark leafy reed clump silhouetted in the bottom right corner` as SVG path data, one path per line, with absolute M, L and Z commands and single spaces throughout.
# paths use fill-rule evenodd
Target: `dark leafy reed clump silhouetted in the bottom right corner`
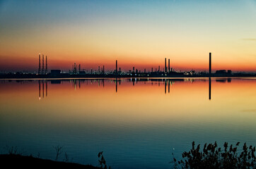
M 182 160 L 176 161 L 173 157 L 174 168 L 255 168 L 255 146 L 243 145 L 243 151 L 238 153 L 240 142 L 233 146 L 228 143 L 223 144 L 223 151 L 218 148 L 217 143 L 204 144 L 200 151 L 200 144 L 197 148 L 192 142 L 192 149 L 182 154 Z

